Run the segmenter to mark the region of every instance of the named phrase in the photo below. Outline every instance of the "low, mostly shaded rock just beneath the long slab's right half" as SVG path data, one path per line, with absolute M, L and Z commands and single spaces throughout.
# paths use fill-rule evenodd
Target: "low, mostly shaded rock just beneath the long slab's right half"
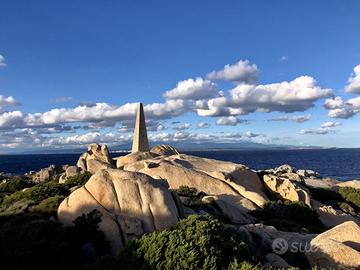
M 258 207 L 252 201 L 240 195 L 205 196 L 202 198 L 202 202 L 215 203 L 220 208 L 222 214 L 234 223 L 250 224 L 255 222 L 255 219 L 248 215 L 247 212 L 256 210 Z

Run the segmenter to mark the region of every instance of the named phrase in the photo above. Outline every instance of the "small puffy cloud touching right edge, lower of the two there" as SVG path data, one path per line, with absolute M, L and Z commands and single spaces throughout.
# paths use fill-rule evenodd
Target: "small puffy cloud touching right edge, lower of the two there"
M 360 97 L 347 101 L 342 97 L 326 99 L 324 107 L 329 110 L 329 117 L 348 119 L 360 112 Z

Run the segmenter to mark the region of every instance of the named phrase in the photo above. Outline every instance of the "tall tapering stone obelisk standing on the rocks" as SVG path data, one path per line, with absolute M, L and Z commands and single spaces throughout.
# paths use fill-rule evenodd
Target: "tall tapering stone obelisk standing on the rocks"
M 144 109 L 142 103 L 139 103 L 139 107 L 136 113 L 133 147 L 131 152 L 135 153 L 149 151 L 149 141 L 146 132 Z

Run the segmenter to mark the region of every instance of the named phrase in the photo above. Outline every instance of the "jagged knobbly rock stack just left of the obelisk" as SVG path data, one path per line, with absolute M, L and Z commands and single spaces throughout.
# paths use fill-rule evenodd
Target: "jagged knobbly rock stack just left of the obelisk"
M 101 169 L 114 167 L 107 146 L 105 144 L 100 146 L 96 143 L 88 146 L 87 152 L 80 156 L 76 166 L 82 171 L 88 171 L 91 174 Z

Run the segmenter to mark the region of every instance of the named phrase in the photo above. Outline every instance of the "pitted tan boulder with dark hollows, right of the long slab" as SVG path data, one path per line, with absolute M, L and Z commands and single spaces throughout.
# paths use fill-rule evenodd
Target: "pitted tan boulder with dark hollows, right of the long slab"
M 299 183 L 275 175 L 264 175 L 264 183 L 267 188 L 279 194 L 283 199 L 301 201 L 311 207 L 310 192 Z

